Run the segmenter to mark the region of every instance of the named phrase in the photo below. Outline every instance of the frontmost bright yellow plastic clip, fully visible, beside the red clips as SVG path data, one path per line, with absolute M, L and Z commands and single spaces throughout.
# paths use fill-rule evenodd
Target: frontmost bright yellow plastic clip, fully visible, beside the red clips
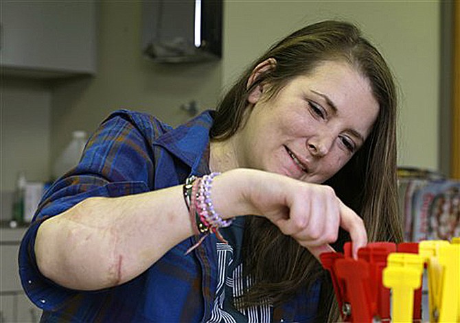
M 418 254 L 389 254 L 382 278 L 383 285 L 392 290 L 393 322 L 413 321 L 414 291 L 422 284 L 423 264 Z

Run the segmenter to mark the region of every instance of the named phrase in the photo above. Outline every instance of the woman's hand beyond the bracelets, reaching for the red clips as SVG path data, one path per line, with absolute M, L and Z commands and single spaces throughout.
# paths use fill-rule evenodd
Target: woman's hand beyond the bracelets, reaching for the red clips
M 221 200 L 225 196 L 215 195 L 227 180 L 233 184 L 227 184 L 229 199 L 225 201 Z M 331 187 L 253 169 L 228 171 L 215 179 L 214 186 L 213 201 L 223 217 L 262 215 L 317 258 L 322 252 L 334 251 L 329 243 L 336 241 L 340 227 L 349 232 L 355 257 L 358 248 L 367 243 L 363 219 L 345 206 Z M 231 197 L 238 195 L 235 202 Z

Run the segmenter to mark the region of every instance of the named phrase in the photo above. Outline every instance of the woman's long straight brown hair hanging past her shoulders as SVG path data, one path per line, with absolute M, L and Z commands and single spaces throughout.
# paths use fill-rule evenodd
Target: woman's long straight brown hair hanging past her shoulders
M 247 86 L 255 67 L 268 58 L 275 58 L 275 67 L 258 75 Z M 378 50 L 354 25 L 323 21 L 299 29 L 268 49 L 223 97 L 211 138 L 229 139 L 244 126 L 248 95 L 255 86 L 270 84 L 272 97 L 294 77 L 308 75 L 321 62 L 331 60 L 347 62 L 367 77 L 380 109 L 363 147 L 325 184 L 333 187 L 336 195 L 363 217 L 369 241 L 402 241 L 396 186 L 395 84 Z M 347 240 L 347 233 L 341 231 L 334 248 L 342 250 Z M 244 274 L 254 278 L 255 284 L 238 300 L 240 307 L 260 304 L 266 298 L 277 307 L 299 289 L 321 279 L 319 320 L 338 318 L 332 285 L 319 262 L 263 217 L 246 219 L 243 261 Z

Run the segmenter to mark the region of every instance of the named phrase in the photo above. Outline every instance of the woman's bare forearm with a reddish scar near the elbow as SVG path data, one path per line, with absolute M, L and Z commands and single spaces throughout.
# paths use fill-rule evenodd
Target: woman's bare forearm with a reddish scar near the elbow
M 89 198 L 38 229 L 38 268 L 71 289 L 125 283 L 193 235 L 180 186 L 121 198 Z

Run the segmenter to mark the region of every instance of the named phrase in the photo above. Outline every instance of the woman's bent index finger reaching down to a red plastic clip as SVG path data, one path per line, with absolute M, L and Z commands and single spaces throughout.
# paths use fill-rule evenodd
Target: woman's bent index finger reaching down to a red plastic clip
M 358 259 L 358 249 L 367 245 L 367 232 L 364 226 L 363 219 L 361 219 L 354 211 L 340 201 L 340 226 L 347 230 L 352 238 L 353 245 L 353 258 Z

